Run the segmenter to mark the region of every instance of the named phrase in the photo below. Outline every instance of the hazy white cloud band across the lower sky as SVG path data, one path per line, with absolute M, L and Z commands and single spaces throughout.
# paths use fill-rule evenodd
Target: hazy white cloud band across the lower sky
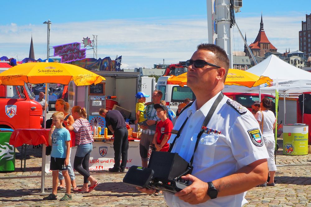
M 298 49 L 298 31 L 303 15 L 289 13 L 288 16 L 263 16 L 268 39 L 278 52 Z M 247 35 L 248 44 L 253 42 L 260 27 L 258 14 L 248 17 L 236 16 L 241 32 Z M 53 21 L 52 21 L 53 23 Z M 0 56 L 28 57 L 30 38 L 33 36 L 35 57 L 46 57 L 46 25 L 0 25 Z M 206 16 L 201 19 L 136 19 L 97 20 L 84 22 L 53 23 L 50 30 L 50 46 L 82 42 L 83 37 L 98 35 L 98 57 L 122 55 L 121 68 L 146 67 L 162 63 L 177 63 L 188 60 L 199 43 L 207 42 Z M 234 28 L 234 50 L 243 51 L 244 42 Z M 51 51 L 52 54 L 53 51 Z M 87 57 L 93 51 L 87 50 Z

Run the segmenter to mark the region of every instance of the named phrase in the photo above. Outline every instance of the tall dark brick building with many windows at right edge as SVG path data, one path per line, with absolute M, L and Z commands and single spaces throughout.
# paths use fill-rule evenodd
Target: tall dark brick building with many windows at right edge
M 311 14 L 306 14 L 306 21 L 301 21 L 301 31 L 299 31 L 299 50 L 310 57 L 311 54 Z

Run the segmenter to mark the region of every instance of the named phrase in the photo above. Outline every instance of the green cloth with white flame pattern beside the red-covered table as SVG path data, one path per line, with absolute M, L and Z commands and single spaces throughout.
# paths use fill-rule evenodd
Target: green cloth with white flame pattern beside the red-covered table
M 9 145 L 12 132 L 0 133 L 0 171 L 15 170 L 15 148 Z

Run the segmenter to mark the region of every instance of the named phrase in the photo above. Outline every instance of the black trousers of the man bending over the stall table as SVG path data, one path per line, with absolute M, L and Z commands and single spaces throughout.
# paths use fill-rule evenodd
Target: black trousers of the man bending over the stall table
M 120 160 L 122 162 L 120 164 Z M 126 127 L 114 131 L 114 169 L 125 169 L 128 161 L 128 130 Z

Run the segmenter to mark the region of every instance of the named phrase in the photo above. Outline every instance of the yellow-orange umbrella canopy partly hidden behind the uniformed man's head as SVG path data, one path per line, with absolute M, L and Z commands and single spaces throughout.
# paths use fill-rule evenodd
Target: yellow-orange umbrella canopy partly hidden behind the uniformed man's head
M 187 85 L 187 73 L 178 76 L 170 76 L 167 81 L 178 84 L 180 86 Z M 258 76 L 245 70 L 229 69 L 226 77 L 225 85 L 238 85 L 246 87 L 255 87 L 263 83 L 271 84 L 272 79 L 266 76 Z

